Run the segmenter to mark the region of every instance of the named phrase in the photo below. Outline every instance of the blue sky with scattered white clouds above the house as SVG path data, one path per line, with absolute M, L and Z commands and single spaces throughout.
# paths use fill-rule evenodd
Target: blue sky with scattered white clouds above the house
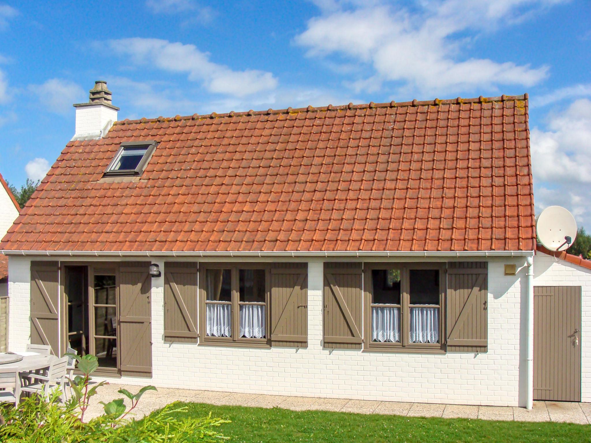
M 537 210 L 591 229 L 587 0 L 0 3 L 0 172 L 39 178 L 106 80 L 119 119 L 530 94 Z

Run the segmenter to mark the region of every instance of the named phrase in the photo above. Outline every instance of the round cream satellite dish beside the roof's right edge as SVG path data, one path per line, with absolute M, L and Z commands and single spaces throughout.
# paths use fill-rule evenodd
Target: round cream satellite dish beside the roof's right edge
M 565 250 L 577 236 L 573 214 L 561 206 L 548 206 L 535 221 L 540 243 L 550 250 Z

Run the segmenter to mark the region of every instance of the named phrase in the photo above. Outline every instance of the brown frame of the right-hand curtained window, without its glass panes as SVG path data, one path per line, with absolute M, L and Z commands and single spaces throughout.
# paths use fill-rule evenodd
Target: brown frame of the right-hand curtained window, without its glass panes
M 374 269 L 400 269 L 400 342 L 372 341 L 372 306 Z M 434 269 L 439 271 L 439 343 L 410 343 L 410 271 L 411 269 Z M 376 262 L 363 265 L 363 350 L 391 351 L 401 353 L 443 353 L 445 351 L 445 302 L 447 292 L 446 262 Z M 390 306 L 390 305 L 388 305 Z M 391 305 L 394 306 L 394 305 Z M 413 305 L 422 306 L 422 305 Z

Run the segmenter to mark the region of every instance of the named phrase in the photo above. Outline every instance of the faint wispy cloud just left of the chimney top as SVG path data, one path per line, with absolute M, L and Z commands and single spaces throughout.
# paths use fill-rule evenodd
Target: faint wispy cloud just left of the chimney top
M 74 103 L 86 102 L 86 91 L 78 84 L 63 79 L 49 79 L 43 84 L 31 84 L 29 90 L 37 95 L 41 108 L 64 114 Z

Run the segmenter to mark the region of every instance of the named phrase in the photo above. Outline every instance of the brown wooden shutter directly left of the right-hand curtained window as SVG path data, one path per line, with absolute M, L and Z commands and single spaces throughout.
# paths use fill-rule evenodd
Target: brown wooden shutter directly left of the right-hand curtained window
M 324 347 L 362 346 L 363 263 L 324 263 Z

